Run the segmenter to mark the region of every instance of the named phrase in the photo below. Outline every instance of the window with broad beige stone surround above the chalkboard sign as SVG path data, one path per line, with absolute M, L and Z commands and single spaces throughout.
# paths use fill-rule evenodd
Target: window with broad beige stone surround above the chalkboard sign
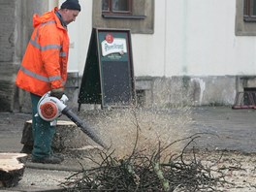
M 92 1 L 92 26 L 131 29 L 134 34 L 152 34 L 154 33 L 154 1 L 94 0 Z

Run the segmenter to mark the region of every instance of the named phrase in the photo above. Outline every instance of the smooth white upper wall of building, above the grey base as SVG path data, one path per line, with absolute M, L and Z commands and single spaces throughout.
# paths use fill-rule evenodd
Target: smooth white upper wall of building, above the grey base
M 69 25 L 69 69 L 79 70 L 80 76 L 91 35 L 92 3 L 80 1 L 80 16 Z M 235 19 L 234 0 L 155 1 L 154 34 L 132 34 L 135 75 L 254 75 L 256 38 L 236 36 Z

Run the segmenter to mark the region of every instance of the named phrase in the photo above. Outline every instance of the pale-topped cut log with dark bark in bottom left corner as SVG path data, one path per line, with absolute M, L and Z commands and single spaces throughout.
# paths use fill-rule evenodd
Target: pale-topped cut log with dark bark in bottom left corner
M 0 153 L 0 187 L 14 187 L 25 170 L 25 153 Z

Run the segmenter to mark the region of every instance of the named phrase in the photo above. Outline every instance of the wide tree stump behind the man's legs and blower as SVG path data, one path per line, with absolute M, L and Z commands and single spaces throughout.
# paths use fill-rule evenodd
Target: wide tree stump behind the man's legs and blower
M 62 151 L 68 148 L 80 148 L 88 145 L 88 141 L 89 137 L 74 122 L 58 120 L 51 146 L 54 150 Z M 33 145 L 32 120 L 28 120 L 24 124 L 21 144 Z

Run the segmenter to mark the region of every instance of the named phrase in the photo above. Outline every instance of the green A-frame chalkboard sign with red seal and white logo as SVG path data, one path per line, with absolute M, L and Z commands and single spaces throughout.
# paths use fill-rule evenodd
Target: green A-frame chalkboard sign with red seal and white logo
M 93 28 L 80 84 L 79 105 L 131 106 L 135 103 L 134 84 L 130 30 Z

